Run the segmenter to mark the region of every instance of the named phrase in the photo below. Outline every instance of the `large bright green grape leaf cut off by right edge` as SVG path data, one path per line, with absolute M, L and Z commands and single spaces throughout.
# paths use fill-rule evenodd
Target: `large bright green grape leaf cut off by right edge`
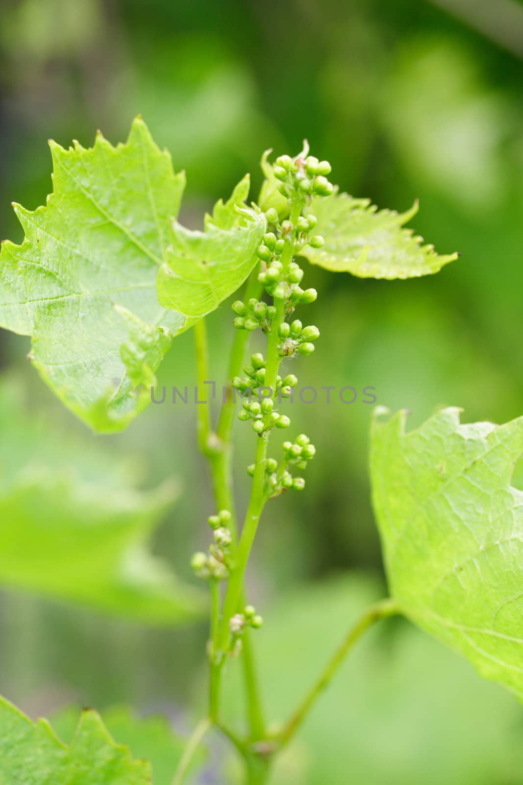
M 381 410 L 383 411 L 383 410 Z M 372 426 L 372 498 L 405 615 L 523 698 L 523 492 L 510 479 L 523 417 L 460 425 L 438 412 Z

